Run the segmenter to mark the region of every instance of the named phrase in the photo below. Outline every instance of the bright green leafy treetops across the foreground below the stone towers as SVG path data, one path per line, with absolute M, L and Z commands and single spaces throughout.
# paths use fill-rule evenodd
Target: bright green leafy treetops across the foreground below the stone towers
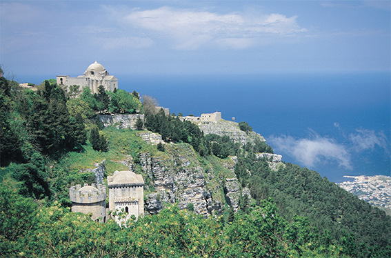
M 47 207 L 0 186 L 2 257 L 343 257 L 308 219 L 287 224 L 272 200 L 225 223 L 171 206 L 159 215 L 98 224 L 59 204 Z

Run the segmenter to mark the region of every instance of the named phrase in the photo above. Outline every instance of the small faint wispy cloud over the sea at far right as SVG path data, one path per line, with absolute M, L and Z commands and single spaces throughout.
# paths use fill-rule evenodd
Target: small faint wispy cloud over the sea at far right
M 374 130 L 356 129 L 356 134 L 351 133 L 349 135 L 350 141 L 353 143 L 352 149 L 356 152 L 363 150 L 374 149 L 374 146 L 378 145 L 384 148 L 388 152 L 387 137 L 383 132 L 375 133 Z

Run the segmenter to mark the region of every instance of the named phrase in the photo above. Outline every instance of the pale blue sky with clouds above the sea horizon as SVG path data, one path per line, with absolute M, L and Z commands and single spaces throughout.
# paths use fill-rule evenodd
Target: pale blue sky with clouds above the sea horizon
M 390 71 L 390 1 L 2 0 L 0 8 L 0 63 L 21 80 L 76 77 L 95 60 L 117 75 Z

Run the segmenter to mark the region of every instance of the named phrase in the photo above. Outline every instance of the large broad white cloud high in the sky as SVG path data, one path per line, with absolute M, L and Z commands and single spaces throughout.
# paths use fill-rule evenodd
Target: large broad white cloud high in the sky
M 150 37 L 172 40 L 174 48 L 179 49 L 197 49 L 205 44 L 241 49 L 270 35 L 287 36 L 307 31 L 297 25 L 297 16 L 266 14 L 256 17 L 170 7 L 132 10 L 122 21 L 144 33 L 157 32 L 158 35 Z

